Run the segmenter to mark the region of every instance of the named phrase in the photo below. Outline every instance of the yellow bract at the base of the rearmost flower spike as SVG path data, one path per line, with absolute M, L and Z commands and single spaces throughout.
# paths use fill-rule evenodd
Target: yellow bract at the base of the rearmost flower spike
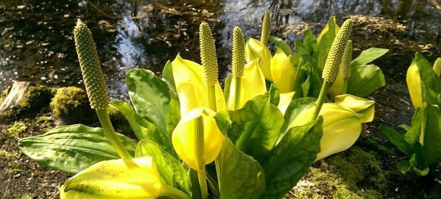
M 263 75 L 265 76 L 265 79 L 274 81 L 271 76 L 270 68 L 272 56 L 271 52 L 269 52 L 267 48 L 267 45 L 258 41 L 257 39 L 249 38 L 245 45 L 245 52 L 247 62 L 260 58 L 259 66 L 263 72 Z

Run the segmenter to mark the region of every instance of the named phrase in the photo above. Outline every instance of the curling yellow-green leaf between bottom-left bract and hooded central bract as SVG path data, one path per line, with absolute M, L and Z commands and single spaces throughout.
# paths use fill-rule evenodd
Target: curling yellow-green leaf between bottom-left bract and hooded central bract
M 159 174 L 167 185 L 177 187 L 181 191 L 192 196 L 192 185 L 188 175 L 188 169 L 171 154 L 149 139 L 141 140 L 135 151 L 135 157 L 141 158 L 152 156 Z

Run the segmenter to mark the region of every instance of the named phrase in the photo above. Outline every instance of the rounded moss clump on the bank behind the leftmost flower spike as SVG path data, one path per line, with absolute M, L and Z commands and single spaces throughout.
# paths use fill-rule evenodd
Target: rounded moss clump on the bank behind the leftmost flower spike
M 61 87 L 57 89 L 50 103 L 50 108 L 52 114 L 65 124 L 96 121 L 88 96 L 79 87 Z

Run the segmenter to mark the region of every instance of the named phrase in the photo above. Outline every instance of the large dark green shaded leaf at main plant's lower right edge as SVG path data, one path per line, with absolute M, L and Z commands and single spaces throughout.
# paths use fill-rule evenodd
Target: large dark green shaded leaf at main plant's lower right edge
M 306 174 L 320 151 L 322 123 L 318 121 L 293 127 L 264 161 L 266 187 L 260 198 L 282 198 Z

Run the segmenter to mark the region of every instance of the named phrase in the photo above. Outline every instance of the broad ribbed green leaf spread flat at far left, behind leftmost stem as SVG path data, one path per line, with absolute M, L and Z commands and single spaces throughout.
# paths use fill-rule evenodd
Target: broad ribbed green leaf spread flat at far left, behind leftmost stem
M 118 134 L 125 148 L 134 154 L 136 143 Z M 103 129 L 85 125 L 56 127 L 49 132 L 19 140 L 20 151 L 32 160 L 72 174 L 102 160 L 119 156 L 107 140 Z

